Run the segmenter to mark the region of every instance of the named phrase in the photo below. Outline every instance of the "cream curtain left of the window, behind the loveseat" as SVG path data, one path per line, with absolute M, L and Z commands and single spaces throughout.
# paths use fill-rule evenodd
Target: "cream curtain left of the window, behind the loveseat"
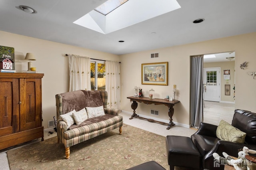
M 69 91 L 91 90 L 90 58 L 68 55 Z

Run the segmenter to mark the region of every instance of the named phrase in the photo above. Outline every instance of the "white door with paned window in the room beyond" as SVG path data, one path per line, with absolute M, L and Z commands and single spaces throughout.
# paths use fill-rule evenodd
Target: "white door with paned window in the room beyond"
M 204 69 L 203 97 L 205 101 L 220 101 L 220 68 Z

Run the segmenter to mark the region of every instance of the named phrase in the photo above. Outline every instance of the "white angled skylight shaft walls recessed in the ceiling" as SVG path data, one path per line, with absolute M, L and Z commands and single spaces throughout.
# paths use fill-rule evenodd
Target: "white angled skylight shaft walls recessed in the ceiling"
M 108 34 L 180 8 L 176 0 L 117 1 L 121 5 L 107 15 L 92 10 L 73 23 L 102 34 Z

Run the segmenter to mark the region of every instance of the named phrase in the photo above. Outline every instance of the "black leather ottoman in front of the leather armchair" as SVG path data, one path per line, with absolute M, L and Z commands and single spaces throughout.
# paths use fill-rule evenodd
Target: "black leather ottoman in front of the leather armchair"
M 170 170 L 174 170 L 174 166 L 200 169 L 201 155 L 191 138 L 166 136 L 166 151 Z

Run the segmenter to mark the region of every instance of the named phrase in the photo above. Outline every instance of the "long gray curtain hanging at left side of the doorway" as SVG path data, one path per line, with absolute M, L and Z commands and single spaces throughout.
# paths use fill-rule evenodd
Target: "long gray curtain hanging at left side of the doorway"
M 191 56 L 190 124 L 195 128 L 203 121 L 203 59 L 204 55 Z

